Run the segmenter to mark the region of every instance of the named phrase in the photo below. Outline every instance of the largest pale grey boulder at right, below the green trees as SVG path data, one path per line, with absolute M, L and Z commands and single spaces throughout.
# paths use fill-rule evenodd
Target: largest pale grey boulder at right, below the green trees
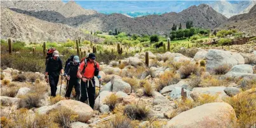
M 237 64 L 245 64 L 245 59 L 241 54 L 235 54 L 225 50 L 210 49 L 206 56 L 206 71 L 212 71 L 215 67 L 223 64 L 235 66 Z

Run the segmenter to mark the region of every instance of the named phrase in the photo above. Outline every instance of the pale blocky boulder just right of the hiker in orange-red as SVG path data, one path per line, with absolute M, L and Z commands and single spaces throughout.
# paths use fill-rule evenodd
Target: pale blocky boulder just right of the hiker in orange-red
M 126 83 L 122 79 L 114 79 L 113 80 L 113 90 L 114 92 L 123 91 L 125 93 L 131 93 L 130 84 Z

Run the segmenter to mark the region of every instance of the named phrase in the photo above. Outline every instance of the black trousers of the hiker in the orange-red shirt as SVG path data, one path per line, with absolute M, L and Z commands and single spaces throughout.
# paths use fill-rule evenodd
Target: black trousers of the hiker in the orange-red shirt
M 91 85 L 91 81 L 93 83 L 93 86 Z M 89 88 L 87 88 L 88 83 L 89 83 Z M 88 93 L 90 107 L 93 108 L 94 103 L 95 103 L 95 79 L 88 80 L 85 83 L 84 83 L 84 81 L 81 80 L 81 98 L 80 98 L 80 102 L 85 102 L 87 100 L 88 97 L 86 95 L 86 91 Z

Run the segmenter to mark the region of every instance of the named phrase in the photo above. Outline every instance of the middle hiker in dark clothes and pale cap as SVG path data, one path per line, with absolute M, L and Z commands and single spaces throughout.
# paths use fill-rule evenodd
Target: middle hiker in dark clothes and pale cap
M 65 77 L 69 81 L 69 84 L 67 86 L 67 91 L 65 94 L 65 98 L 70 99 L 71 91 L 73 89 L 73 86 L 76 91 L 76 100 L 79 100 L 80 97 L 80 84 L 79 79 L 77 78 L 77 71 L 78 67 L 80 65 L 79 57 L 75 55 L 73 57 L 72 62 L 69 62 L 67 64 L 67 67 L 65 68 Z

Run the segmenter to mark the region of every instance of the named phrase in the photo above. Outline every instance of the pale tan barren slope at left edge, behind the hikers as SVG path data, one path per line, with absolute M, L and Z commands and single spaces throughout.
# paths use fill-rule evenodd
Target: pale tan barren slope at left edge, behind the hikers
M 64 42 L 67 38 L 84 37 L 83 32 L 61 23 L 39 20 L 1 8 L 1 38 L 13 38 L 25 42 Z

